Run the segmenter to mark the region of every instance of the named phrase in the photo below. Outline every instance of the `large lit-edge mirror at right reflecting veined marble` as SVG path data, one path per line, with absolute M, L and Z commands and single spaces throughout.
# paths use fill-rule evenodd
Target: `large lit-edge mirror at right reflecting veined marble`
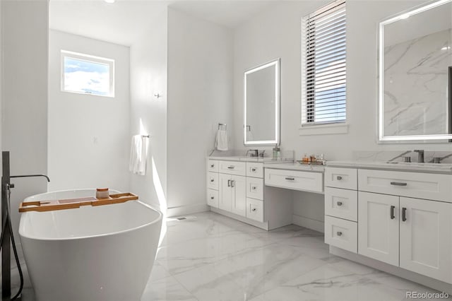
M 379 25 L 380 141 L 452 139 L 452 0 Z

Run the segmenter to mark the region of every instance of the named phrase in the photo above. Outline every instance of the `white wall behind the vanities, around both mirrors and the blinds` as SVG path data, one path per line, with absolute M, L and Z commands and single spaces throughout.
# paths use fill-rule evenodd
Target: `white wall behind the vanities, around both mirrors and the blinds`
M 328 1 L 283 1 L 234 30 L 234 141 L 242 146 L 243 71 L 281 58 L 281 148 L 324 153 L 328 160 L 352 159 L 354 151 L 424 148 L 451 144 L 379 144 L 376 141 L 376 57 L 379 20 L 419 1 L 347 1 L 347 134 L 300 136 L 300 20 Z M 294 192 L 295 218 L 323 223 L 323 198 Z

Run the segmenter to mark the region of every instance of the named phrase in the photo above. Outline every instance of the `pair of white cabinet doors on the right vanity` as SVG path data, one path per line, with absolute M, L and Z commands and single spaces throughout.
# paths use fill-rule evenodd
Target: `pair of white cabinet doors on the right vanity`
M 452 203 L 359 191 L 358 253 L 452 283 Z

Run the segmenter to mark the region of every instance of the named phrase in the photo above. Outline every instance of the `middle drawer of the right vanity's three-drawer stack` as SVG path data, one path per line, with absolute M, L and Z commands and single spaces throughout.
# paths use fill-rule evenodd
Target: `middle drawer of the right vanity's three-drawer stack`
M 357 222 L 358 191 L 325 187 L 325 214 Z

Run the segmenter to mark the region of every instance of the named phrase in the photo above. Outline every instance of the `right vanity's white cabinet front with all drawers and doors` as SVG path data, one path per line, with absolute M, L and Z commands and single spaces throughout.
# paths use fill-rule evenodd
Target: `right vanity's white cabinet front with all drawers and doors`
M 325 183 L 326 243 L 452 283 L 452 175 L 327 167 Z

